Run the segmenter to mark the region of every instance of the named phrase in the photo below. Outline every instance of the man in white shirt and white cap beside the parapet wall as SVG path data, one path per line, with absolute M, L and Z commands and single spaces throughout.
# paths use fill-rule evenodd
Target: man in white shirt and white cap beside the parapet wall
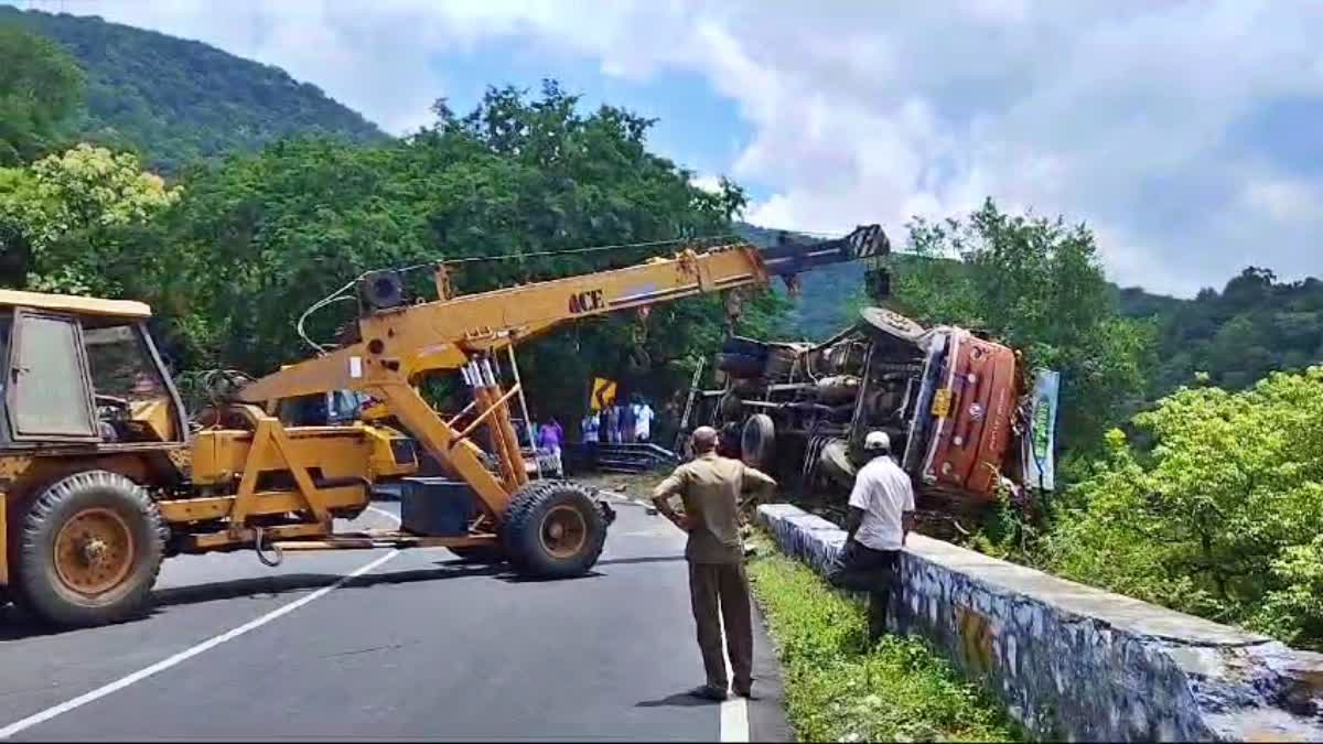
M 868 592 L 868 637 L 886 630 L 896 561 L 914 523 L 914 486 L 892 459 L 886 432 L 869 432 L 864 450 L 872 461 L 855 477 L 849 494 L 849 536 L 827 580 L 841 589 Z

